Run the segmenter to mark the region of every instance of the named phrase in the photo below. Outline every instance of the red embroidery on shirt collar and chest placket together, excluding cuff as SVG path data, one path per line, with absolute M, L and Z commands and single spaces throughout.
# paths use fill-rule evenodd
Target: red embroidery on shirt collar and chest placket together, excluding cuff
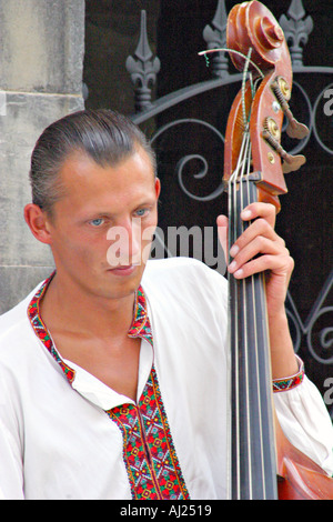
M 40 302 L 54 273 L 44 281 L 28 305 L 28 317 L 37 337 L 56 359 L 69 383 L 75 372 L 68 367 L 53 345 L 40 315 Z M 153 345 L 144 292 L 139 287 L 130 337 L 145 339 Z M 133 499 L 184 500 L 189 493 L 175 454 L 154 367 L 135 404 L 107 411 L 123 436 L 123 460 Z

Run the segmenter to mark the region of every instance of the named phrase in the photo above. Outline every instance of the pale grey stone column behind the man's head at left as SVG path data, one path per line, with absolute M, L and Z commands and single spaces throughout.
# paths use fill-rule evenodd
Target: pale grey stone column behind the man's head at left
M 42 130 L 83 108 L 84 0 L 0 0 L 0 313 L 53 269 L 29 231 L 30 155 Z

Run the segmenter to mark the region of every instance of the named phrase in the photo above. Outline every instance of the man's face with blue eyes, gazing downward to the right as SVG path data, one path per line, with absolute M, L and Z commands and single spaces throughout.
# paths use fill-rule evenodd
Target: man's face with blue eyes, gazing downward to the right
M 133 293 L 157 227 L 159 180 L 143 149 L 117 167 L 100 167 L 82 152 L 64 162 L 64 195 L 47 220 L 57 272 L 107 299 Z

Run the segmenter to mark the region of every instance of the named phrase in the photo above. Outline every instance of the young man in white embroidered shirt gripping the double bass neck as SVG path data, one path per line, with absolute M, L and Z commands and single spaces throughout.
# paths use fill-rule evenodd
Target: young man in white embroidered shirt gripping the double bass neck
M 2 495 L 225 498 L 226 280 L 194 260 L 148 261 L 160 181 L 144 137 L 110 111 L 71 114 L 40 137 L 30 179 L 26 220 L 56 271 L 0 318 Z M 254 218 L 229 270 L 271 271 L 275 388 L 289 378 L 276 412 L 332 474 L 332 424 L 284 311 L 293 261 L 274 209 L 252 204 L 243 219 Z

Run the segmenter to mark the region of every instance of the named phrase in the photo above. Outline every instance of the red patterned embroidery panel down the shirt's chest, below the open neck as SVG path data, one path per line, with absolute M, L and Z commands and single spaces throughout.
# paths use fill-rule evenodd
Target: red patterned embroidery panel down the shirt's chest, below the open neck
M 125 404 L 108 411 L 123 435 L 123 459 L 135 500 L 184 500 L 182 478 L 155 370 L 152 369 L 138 406 Z

